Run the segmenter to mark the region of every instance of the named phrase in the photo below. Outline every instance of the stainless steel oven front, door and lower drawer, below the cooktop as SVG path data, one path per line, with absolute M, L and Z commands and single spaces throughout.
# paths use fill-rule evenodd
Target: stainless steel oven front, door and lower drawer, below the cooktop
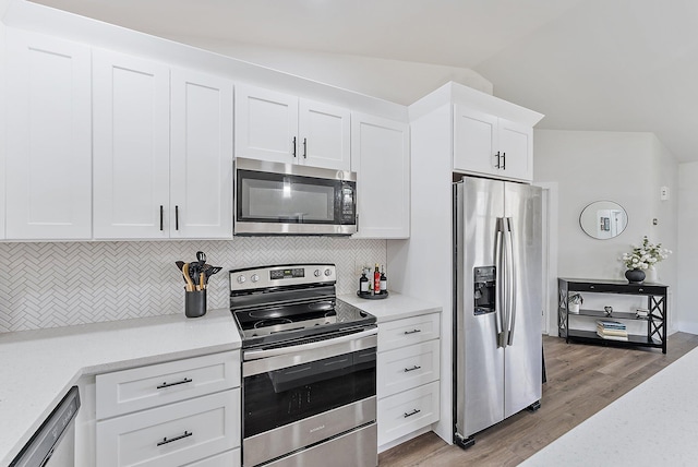
M 361 440 L 350 450 L 352 465 L 375 465 L 376 343 L 373 327 L 292 347 L 243 351 L 243 465 L 298 456 L 299 450 L 317 451 L 322 444 L 332 452 L 332 443 L 340 446 L 341 439 L 352 435 Z M 366 436 L 365 429 L 373 435 Z

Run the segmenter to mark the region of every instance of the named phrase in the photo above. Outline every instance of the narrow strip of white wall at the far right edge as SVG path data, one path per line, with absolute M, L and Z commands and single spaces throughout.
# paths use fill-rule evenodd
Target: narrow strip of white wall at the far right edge
M 698 280 L 698 163 L 682 164 L 678 171 L 678 290 L 676 297 L 677 326 L 698 334 L 698 304 L 693 297 Z M 685 292 L 681 292 L 685 290 Z

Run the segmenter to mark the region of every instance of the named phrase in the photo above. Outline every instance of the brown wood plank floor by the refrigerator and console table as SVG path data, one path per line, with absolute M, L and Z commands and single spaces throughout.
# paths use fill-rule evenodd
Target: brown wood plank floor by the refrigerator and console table
M 698 347 L 698 336 L 670 336 L 667 352 L 565 344 L 543 336 L 547 383 L 541 408 L 524 410 L 476 435 L 468 450 L 426 433 L 378 456 L 388 466 L 515 466 L 651 375 Z

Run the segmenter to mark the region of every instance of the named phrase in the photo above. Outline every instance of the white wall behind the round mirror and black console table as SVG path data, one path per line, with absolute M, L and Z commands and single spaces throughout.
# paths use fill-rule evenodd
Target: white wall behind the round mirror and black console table
M 659 188 L 677 190 L 678 165 L 654 134 L 535 130 L 533 154 L 535 181 L 558 183 L 561 277 L 623 280 L 619 256 L 648 236 L 674 251 L 658 273 L 670 294 L 677 295 L 677 196 L 660 201 Z M 614 239 L 593 239 L 579 227 L 583 207 L 599 200 L 614 201 L 628 214 L 626 230 Z M 672 328 L 671 298 L 669 304 Z

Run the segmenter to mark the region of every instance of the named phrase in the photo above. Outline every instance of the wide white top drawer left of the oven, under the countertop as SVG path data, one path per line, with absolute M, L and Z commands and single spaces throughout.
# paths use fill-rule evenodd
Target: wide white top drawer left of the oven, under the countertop
M 98 374 L 97 420 L 239 385 L 238 351 Z

